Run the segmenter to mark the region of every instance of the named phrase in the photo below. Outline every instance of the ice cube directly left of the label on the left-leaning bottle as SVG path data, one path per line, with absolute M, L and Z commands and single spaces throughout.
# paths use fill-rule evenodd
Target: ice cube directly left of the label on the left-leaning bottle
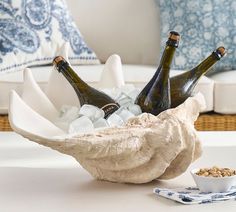
M 96 106 L 84 104 L 79 111 L 82 116 L 87 116 L 92 122 L 104 118 L 104 111 Z

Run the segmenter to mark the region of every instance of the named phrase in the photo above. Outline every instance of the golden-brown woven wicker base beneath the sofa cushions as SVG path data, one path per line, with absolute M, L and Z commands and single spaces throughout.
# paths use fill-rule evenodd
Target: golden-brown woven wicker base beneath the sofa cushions
M 233 131 L 236 130 L 236 115 L 201 114 L 195 127 L 199 131 Z M 0 131 L 12 131 L 7 115 L 0 116 Z

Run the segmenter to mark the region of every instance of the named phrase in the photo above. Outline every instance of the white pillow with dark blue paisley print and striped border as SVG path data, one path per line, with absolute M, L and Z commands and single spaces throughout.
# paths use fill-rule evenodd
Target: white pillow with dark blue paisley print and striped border
M 49 64 L 69 43 L 71 64 L 97 64 L 64 0 L 0 0 L 0 73 Z

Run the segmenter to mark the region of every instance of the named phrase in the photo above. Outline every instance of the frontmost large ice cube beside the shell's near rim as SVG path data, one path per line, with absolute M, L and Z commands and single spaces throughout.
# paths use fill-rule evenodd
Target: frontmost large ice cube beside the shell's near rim
M 94 131 L 93 123 L 86 116 L 81 116 L 72 121 L 68 130 L 70 134 L 91 133 L 92 131 Z

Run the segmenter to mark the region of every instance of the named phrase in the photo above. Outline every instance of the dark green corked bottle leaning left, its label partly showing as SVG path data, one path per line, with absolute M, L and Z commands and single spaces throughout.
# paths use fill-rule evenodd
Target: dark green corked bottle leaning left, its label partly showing
M 84 82 L 63 57 L 55 57 L 53 64 L 74 88 L 81 106 L 84 104 L 90 104 L 101 108 L 105 113 L 105 118 L 119 109 L 119 104 L 110 96 L 96 90 Z

